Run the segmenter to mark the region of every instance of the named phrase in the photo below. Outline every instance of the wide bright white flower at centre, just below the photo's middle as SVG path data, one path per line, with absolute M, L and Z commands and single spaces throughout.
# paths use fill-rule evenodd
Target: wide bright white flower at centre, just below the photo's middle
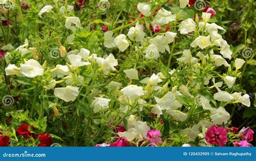
M 144 95 L 144 90 L 142 89 L 142 87 L 138 87 L 136 85 L 129 85 L 123 89 L 121 89 L 121 92 L 129 97 L 130 99 L 136 99 L 139 96 Z

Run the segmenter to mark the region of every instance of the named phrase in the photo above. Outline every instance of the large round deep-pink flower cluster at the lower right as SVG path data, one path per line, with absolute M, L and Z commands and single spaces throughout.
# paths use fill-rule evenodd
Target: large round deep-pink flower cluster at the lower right
M 218 144 L 219 146 L 225 146 L 227 143 L 227 131 L 224 128 L 212 126 L 205 135 L 206 142 L 210 144 Z

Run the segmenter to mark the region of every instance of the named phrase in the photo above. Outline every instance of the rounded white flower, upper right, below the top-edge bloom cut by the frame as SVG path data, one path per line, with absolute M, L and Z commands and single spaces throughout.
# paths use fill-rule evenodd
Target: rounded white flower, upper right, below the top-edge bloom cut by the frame
M 187 34 L 194 30 L 196 30 L 196 23 L 191 18 L 188 18 L 179 24 L 178 31 L 180 34 Z

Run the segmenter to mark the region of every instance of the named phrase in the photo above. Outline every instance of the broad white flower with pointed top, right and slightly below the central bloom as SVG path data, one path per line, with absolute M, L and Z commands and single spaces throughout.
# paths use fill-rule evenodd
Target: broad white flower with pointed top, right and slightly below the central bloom
M 154 97 L 158 106 L 161 110 L 165 109 L 178 109 L 182 106 L 178 101 L 176 101 L 175 95 L 172 92 L 166 93 L 161 99 Z

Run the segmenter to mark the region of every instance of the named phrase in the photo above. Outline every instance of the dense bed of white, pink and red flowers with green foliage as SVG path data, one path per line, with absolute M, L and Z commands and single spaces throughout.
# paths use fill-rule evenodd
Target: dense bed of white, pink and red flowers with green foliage
M 1 4 L 0 146 L 252 146 L 231 118 L 254 53 L 210 2 Z

